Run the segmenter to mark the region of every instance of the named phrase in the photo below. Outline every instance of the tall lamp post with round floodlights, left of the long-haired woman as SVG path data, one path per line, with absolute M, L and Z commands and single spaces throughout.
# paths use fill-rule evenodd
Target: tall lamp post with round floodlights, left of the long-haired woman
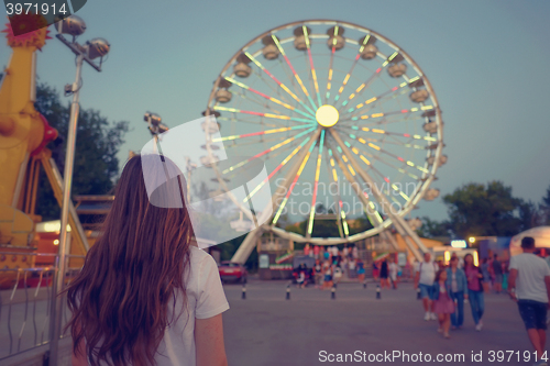
M 51 345 L 50 345 L 50 363 L 51 365 L 58 364 L 58 342 L 62 333 L 62 311 L 63 303 L 62 298 L 57 297 L 57 292 L 63 289 L 65 271 L 66 271 L 66 256 L 67 256 L 67 222 L 68 222 L 68 209 L 70 202 L 70 188 L 73 184 L 73 167 L 75 162 L 75 144 L 76 144 L 76 131 L 78 124 L 78 112 L 79 112 L 79 91 L 81 87 L 80 75 L 84 62 L 95 68 L 97 71 L 101 71 L 101 65 L 103 62 L 103 56 L 109 52 L 110 45 L 103 38 L 94 38 L 80 45 L 76 42 L 77 36 L 81 35 L 86 31 L 86 23 L 82 19 L 77 15 L 72 15 L 56 23 L 56 30 L 58 34 L 56 37 L 63 42 L 67 47 L 73 51 L 76 55 L 76 77 L 73 85 L 65 86 L 65 95 L 73 95 L 73 102 L 70 104 L 70 118 L 68 126 L 67 146 L 65 154 L 65 169 L 63 174 L 64 188 L 63 188 L 63 204 L 62 204 L 62 218 L 61 218 L 61 235 L 59 235 L 59 246 L 57 255 L 57 274 L 55 281 L 53 284 L 53 300 L 52 300 L 52 313 L 51 313 Z M 65 38 L 63 34 L 68 34 L 73 36 L 69 42 Z M 100 57 L 99 65 L 97 65 L 94 59 Z

